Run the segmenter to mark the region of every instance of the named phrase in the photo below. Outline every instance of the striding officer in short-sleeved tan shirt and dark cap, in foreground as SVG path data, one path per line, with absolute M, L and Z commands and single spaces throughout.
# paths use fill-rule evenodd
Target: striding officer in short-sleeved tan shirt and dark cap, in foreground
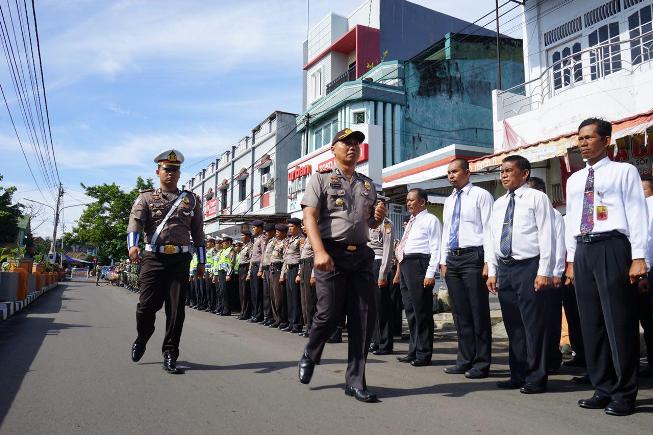
M 304 225 L 315 252 L 317 307 L 308 343 L 299 361 L 299 381 L 308 384 L 324 345 L 346 314 L 349 356 L 345 394 L 375 402 L 367 390 L 365 362 L 374 329 L 374 252 L 369 229 L 385 218 L 376 204 L 372 180 L 355 172 L 365 135 L 344 129 L 333 139 L 335 167 L 314 174 L 301 204 Z M 376 205 L 375 205 L 376 204 Z

